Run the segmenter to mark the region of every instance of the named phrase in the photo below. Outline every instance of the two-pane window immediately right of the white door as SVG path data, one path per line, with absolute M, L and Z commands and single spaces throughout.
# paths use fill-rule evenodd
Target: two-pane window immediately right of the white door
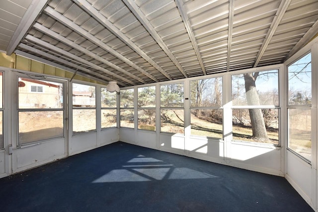
M 96 131 L 95 86 L 73 83 L 73 135 Z

